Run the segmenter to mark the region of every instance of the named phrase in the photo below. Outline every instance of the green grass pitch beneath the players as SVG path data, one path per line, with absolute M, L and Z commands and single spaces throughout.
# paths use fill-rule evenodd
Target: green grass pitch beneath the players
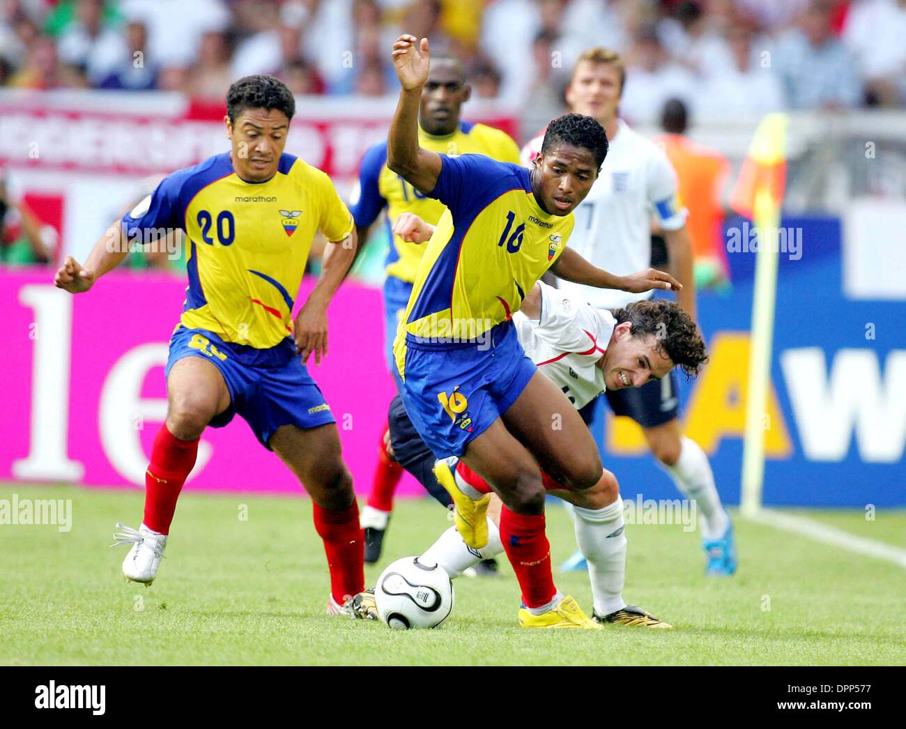
M 518 628 L 518 588 L 456 580 L 438 630 L 391 631 L 324 615 L 328 575 L 304 498 L 193 494 L 179 502 L 167 558 L 144 588 L 124 580 L 114 525 L 138 527 L 138 490 L 2 484 L 0 499 L 72 499 L 72 531 L 0 525 L 0 664 L 856 665 L 902 664 L 903 570 L 737 519 L 736 577 L 706 579 L 697 533 L 629 525 L 624 597 L 674 630 Z M 245 507 L 243 506 L 245 505 Z M 247 510 L 247 520 L 240 517 Z M 854 534 L 906 547 L 906 512 L 808 512 Z M 402 501 L 385 559 L 418 554 L 448 526 L 428 499 Z M 575 547 L 549 504 L 554 565 Z M 591 609 L 584 573 L 555 575 Z

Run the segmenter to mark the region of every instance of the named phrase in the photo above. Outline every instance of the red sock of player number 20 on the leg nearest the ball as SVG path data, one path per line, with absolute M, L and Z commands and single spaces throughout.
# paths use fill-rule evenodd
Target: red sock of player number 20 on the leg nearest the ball
M 359 526 L 359 504 L 331 511 L 314 505 L 314 528 L 324 541 L 331 571 L 331 594 L 338 605 L 365 589 L 365 539 Z

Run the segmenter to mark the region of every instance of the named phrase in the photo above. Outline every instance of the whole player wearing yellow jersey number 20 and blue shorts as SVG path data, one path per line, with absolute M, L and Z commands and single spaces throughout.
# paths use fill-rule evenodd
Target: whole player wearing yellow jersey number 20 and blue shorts
M 327 305 L 355 255 L 352 216 L 320 169 L 284 153 L 295 111 L 273 76 L 248 76 L 226 96 L 231 150 L 166 177 L 111 226 L 85 265 L 67 257 L 55 283 L 88 291 L 129 242 L 186 233 L 188 288 L 167 362 L 167 420 L 154 438 L 145 513 L 123 573 L 154 580 L 182 484 L 207 426 L 236 413 L 312 495 L 331 572 L 328 612 L 364 586 L 359 512 L 330 408 L 305 367 L 327 352 Z M 316 230 L 329 241 L 323 272 L 293 319 L 294 296 Z

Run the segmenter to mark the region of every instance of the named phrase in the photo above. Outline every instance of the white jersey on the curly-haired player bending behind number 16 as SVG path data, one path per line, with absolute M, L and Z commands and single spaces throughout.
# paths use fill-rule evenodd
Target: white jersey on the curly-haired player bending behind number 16
M 513 314 L 525 354 L 554 380 L 576 409 L 604 391 L 604 373 L 595 366 L 607 350 L 616 322 L 611 312 L 595 309 L 573 292 L 539 282 L 541 318 Z

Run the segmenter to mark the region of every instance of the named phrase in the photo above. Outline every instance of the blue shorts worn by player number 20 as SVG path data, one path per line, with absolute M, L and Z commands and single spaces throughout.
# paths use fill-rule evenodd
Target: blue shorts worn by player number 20
M 184 357 L 212 362 L 226 381 L 229 408 L 209 423 L 224 427 L 238 413 L 268 450 L 274 431 L 284 425 L 310 428 L 335 423 L 292 339 L 269 350 L 221 340 L 217 334 L 180 326 L 170 338 L 166 374 Z

